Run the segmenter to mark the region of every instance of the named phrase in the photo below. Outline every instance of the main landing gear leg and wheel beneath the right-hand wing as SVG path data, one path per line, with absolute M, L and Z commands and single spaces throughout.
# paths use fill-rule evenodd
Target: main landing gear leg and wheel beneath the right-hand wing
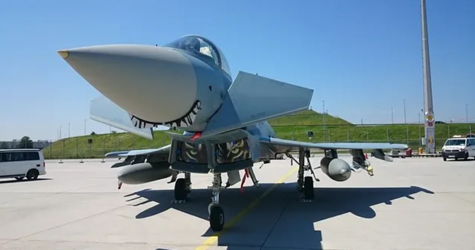
M 300 149 L 298 152 L 298 161 L 289 153 L 286 153 L 287 157 L 291 158 L 298 164 L 297 172 L 297 191 L 300 193 L 300 202 L 312 202 L 314 198 L 313 193 L 313 179 L 320 181 L 315 176 L 310 164 L 310 150 Z M 308 164 L 305 165 L 305 158 Z M 310 171 L 313 176 L 304 176 L 305 171 Z

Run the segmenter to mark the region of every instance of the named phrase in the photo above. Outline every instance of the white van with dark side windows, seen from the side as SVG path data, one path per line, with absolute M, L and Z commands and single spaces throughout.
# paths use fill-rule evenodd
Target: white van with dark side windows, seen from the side
M 45 167 L 39 149 L 0 149 L 0 178 L 36 179 L 46 174 Z

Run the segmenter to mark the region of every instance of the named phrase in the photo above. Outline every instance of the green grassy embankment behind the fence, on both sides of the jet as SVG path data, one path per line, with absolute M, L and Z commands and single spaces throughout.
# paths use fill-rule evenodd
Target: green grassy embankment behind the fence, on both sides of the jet
M 354 125 L 350 122 L 331 115 L 325 115 L 326 124 L 323 133 L 322 114 L 312 110 L 305 110 L 269 120 L 277 137 L 310 141 L 308 131 L 313 131 L 312 142 L 393 142 L 407 143 L 413 149 L 420 146 L 420 134 L 423 136 L 424 127 L 418 124 L 382 124 L 382 125 Z M 475 124 L 472 124 L 475 130 Z M 181 131 L 172 132 L 181 133 Z M 407 131 L 408 138 L 407 140 Z M 468 133 L 468 124 L 436 124 L 436 148 L 440 150 L 447 137 L 454 134 Z M 128 132 L 94 134 L 64 138 L 55 141 L 52 145 L 43 148 L 44 157 L 47 159 L 66 158 L 100 158 L 106 152 L 117 150 L 130 150 L 149 147 L 160 147 L 170 142 L 169 136 L 163 131 L 154 131 L 154 140 L 148 140 Z M 88 139 L 92 143 L 88 143 Z

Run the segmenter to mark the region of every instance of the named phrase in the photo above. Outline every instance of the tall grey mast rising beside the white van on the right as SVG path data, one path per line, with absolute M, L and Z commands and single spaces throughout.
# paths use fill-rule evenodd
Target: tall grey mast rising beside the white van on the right
M 420 0 L 420 21 L 422 29 L 422 73 L 424 92 L 424 134 L 425 151 L 435 153 L 435 122 L 432 104 L 432 82 L 430 79 L 429 40 L 427 35 L 427 15 L 425 12 L 425 0 Z

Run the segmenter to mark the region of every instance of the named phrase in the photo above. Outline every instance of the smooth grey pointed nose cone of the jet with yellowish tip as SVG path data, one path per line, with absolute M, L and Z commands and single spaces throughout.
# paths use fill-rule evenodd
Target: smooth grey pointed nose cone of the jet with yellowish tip
M 180 119 L 195 104 L 194 69 L 171 48 L 117 44 L 57 53 L 104 96 L 141 120 Z

